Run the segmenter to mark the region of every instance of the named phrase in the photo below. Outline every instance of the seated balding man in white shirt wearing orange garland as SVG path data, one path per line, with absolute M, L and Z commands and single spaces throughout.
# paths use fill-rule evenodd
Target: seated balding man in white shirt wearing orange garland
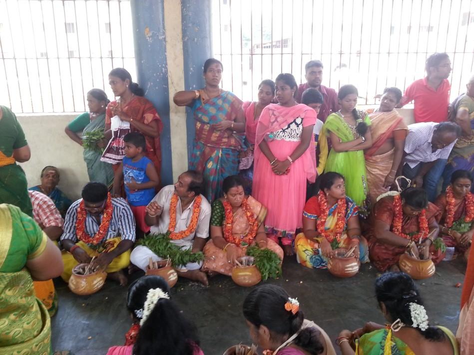
M 193 253 L 202 251 L 209 237 L 211 205 L 203 196 L 204 178 L 194 170 L 178 177 L 174 185 L 168 185 L 146 207 L 145 222 L 152 234 L 170 232 L 171 243 Z M 146 270 L 149 259 L 162 260 L 148 247 L 140 245 L 130 255 L 132 264 Z M 208 285 L 207 276 L 201 269 L 202 262 L 188 263 L 176 269 L 179 276 Z

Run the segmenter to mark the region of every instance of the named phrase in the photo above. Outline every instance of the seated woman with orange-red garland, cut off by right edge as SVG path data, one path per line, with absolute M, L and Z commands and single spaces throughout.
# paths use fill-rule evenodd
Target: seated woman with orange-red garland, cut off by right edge
M 473 177 L 467 170 L 457 170 L 451 184 L 435 201 L 440 209 L 438 222 L 446 246 L 456 247 L 465 253 L 471 246 L 474 234 L 474 194 L 471 193 Z

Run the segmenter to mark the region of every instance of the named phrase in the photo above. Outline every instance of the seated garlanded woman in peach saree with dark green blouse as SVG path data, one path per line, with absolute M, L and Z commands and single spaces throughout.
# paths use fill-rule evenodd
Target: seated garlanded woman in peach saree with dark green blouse
M 203 271 L 230 276 L 237 259 L 247 246 L 268 248 L 283 260 L 283 250 L 267 238 L 263 221 L 267 208 L 244 191 L 244 181 L 237 175 L 224 179 L 224 197 L 212 203 L 211 240 L 204 246 Z

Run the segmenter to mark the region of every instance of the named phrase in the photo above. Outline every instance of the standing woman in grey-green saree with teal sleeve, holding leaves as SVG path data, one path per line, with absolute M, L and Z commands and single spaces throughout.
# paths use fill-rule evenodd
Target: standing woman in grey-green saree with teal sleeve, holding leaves
M 67 125 L 64 132 L 77 144 L 84 148 L 84 162 L 87 165 L 89 181 L 101 182 L 110 186 L 113 181 L 112 165 L 100 161 L 104 144 L 102 140 L 96 144 L 84 146 L 82 138 L 91 132 L 103 135 L 105 128 L 105 109 L 110 100 L 107 94 L 100 89 L 92 89 L 87 93 L 87 106 L 89 112 L 84 112 L 77 116 Z M 82 132 L 81 135 L 78 135 Z

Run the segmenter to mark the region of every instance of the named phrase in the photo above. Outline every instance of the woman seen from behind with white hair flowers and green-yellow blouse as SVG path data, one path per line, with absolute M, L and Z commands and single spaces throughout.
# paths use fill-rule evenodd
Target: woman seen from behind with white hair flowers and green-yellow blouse
M 369 322 L 354 332 L 343 330 L 336 339 L 342 355 L 459 355 L 454 334 L 448 328 L 430 325 L 410 276 L 403 272 L 383 274 L 375 281 L 375 295 L 389 325 Z

